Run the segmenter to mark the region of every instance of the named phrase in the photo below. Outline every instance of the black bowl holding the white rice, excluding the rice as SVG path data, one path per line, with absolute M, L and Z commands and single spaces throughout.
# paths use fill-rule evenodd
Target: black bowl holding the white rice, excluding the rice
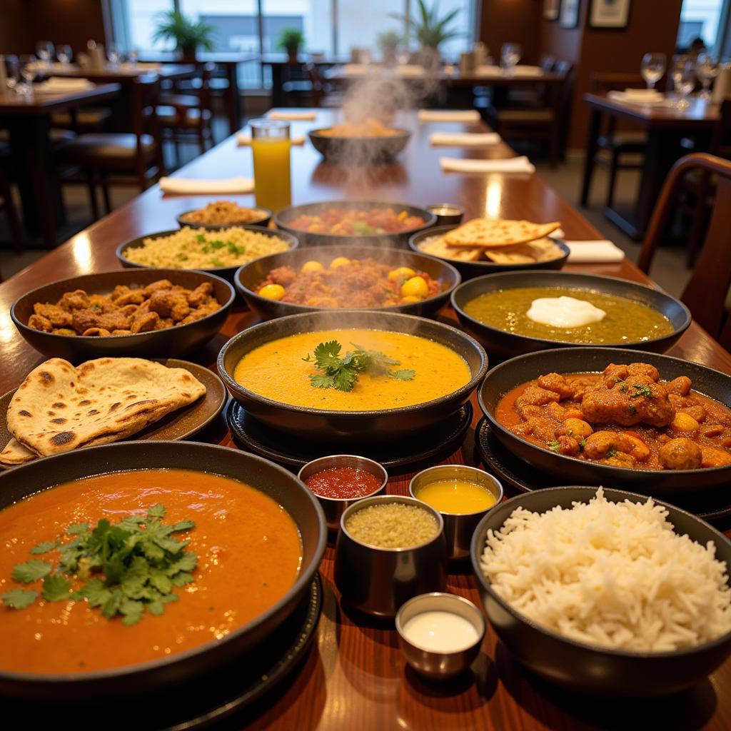
M 731 633 L 710 643 L 665 652 L 630 652 L 601 648 L 569 640 L 539 626 L 520 614 L 496 594 L 480 568 L 488 530 L 498 531 L 518 507 L 546 512 L 553 507 L 570 508 L 572 502 L 588 502 L 596 488 L 546 488 L 525 493 L 494 507 L 474 531 L 472 568 L 477 577 L 485 613 L 502 643 L 520 663 L 549 681 L 574 692 L 604 696 L 647 696 L 677 692 L 695 685 L 713 673 L 731 653 Z M 618 490 L 604 491 L 607 500 L 644 502 L 645 496 Z M 670 515 L 675 532 L 706 545 L 716 546 L 716 558 L 731 565 L 731 542 L 708 523 L 685 510 L 661 503 Z

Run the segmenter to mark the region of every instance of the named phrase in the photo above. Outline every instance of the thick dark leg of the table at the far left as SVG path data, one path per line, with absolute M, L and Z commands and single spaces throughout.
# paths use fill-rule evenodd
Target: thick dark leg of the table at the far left
M 51 149 L 47 115 L 7 117 L 0 124 L 10 133 L 13 177 L 20 189 L 23 223 L 46 246 L 56 246 L 66 215 Z

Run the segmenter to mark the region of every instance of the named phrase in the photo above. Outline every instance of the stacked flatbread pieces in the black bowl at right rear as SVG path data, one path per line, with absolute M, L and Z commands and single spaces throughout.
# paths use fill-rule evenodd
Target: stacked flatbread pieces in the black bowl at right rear
M 560 227 L 558 221 L 534 224 L 509 219 L 472 219 L 443 236 L 423 240 L 419 249 L 434 257 L 462 262 L 543 262 L 557 259 L 563 253 L 556 242 L 547 238 Z

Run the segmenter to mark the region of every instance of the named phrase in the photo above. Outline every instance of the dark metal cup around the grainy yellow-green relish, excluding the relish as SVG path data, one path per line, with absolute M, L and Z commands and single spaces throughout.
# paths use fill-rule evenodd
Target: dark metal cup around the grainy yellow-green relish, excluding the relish
M 431 541 L 409 548 L 378 548 L 353 538 L 348 518 L 371 505 L 402 503 L 430 512 L 439 530 Z M 393 617 L 406 600 L 447 583 L 447 544 L 439 512 L 401 495 L 382 495 L 352 504 L 340 519 L 335 554 L 335 583 L 343 599 L 366 614 Z

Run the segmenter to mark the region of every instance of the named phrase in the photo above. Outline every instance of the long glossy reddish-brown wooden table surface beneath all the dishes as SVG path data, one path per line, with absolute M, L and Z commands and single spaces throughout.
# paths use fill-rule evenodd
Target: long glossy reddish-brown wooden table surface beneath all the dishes
M 319 110 L 314 121 L 292 123 L 293 132 L 301 134 L 311 127 L 332 124 L 336 116 L 337 113 Z M 513 155 L 502 143 L 465 152 L 463 148 L 433 147 L 429 142 L 431 132 L 484 131 L 482 123 L 418 124 L 414 115 L 402 116 L 398 123 L 409 126 L 412 140 L 398 162 L 379 167 L 345 170 L 322 162 L 308 144 L 292 148 L 293 202 L 363 197 L 394 204 L 402 201 L 415 205 L 455 202 L 465 208 L 468 218 L 501 216 L 531 221 L 555 220 L 561 221 L 568 240 L 602 238 L 538 175 L 442 173 L 439 156 L 443 154 L 491 158 Z M 251 151 L 238 147 L 235 138 L 230 138 L 175 175 L 223 178 L 251 175 L 251 170 Z M 253 203 L 251 195 L 234 198 L 242 204 Z M 0 284 L 0 393 L 17 387 L 28 371 L 43 360 L 23 341 L 12 324 L 9 308 L 15 298 L 46 282 L 120 268 L 114 254 L 119 243 L 145 233 L 174 228 L 177 213 L 208 200 L 211 196 L 166 196 L 154 186 Z M 569 265 L 567 269 L 653 286 L 626 259 L 613 264 Z M 455 314 L 447 307 L 439 319 L 454 324 Z M 254 322 L 257 319 L 250 311 L 235 306 L 219 336 L 192 358 L 215 369 L 216 355 L 222 344 Z M 731 374 L 731 355 L 695 324 L 673 346 L 670 355 Z M 480 417 L 474 397 L 472 405 L 474 426 Z M 243 446 L 234 442 L 224 423 L 219 424 L 219 431 L 207 429 L 197 439 L 234 448 Z M 357 452 L 357 444 L 352 450 Z M 480 465 L 474 451 L 472 430 L 458 450 L 444 455 L 443 462 Z M 409 472 L 393 474 L 388 492 L 406 494 L 410 477 Z M 524 670 L 488 626 L 482 652 L 471 666 L 471 672 L 450 683 L 425 681 L 406 667 L 393 621 L 363 618 L 341 604 L 333 583 L 334 553 L 330 544 L 320 567 L 324 586 L 322 616 L 317 636 L 302 664 L 273 692 L 221 721 L 219 727 L 283 731 L 569 731 L 591 728 L 723 731 L 731 728 L 731 661 L 713 673 L 708 681 L 673 697 L 644 698 L 635 702 L 616 697 L 596 699 L 559 689 Z M 447 591 L 480 604 L 477 583 L 469 565 L 452 567 Z

